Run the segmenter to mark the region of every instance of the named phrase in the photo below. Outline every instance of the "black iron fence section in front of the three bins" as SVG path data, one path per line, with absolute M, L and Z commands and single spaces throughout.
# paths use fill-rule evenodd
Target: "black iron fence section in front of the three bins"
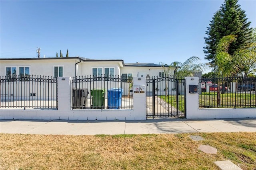
M 72 109 L 133 109 L 132 77 L 72 78 Z

